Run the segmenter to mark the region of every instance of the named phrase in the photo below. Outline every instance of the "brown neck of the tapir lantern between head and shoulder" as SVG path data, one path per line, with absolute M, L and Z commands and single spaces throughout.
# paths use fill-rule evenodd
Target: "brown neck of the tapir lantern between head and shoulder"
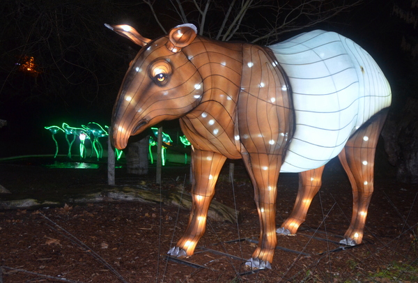
M 235 142 L 238 93 L 242 78 L 242 43 L 196 38 L 183 49 L 203 79 L 199 105 L 181 118 L 194 148 L 240 158 Z

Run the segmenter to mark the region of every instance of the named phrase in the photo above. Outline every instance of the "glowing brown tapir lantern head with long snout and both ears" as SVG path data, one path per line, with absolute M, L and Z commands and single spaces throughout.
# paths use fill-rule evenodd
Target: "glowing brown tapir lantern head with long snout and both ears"
M 130 63 L 114 107 L 113 141 L 125 148 L 137 135 L 163 120 L 183 116 L 199 104 L 202 78 L 180 50 L 196 38 L 196 28 L 185 24 L 168 36 L 150 40 L 126 25 L 111 29 L 143 47 Z

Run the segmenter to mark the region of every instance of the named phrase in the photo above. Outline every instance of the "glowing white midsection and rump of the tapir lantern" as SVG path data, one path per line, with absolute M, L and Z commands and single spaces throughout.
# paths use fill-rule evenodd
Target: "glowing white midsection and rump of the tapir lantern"
M 377 63 L 338 33 L 302 33 L 270 49 L 288 75 L 295 109 L 295 133 L 281 172 L 325 165 L 391 103 L 389 83 Z

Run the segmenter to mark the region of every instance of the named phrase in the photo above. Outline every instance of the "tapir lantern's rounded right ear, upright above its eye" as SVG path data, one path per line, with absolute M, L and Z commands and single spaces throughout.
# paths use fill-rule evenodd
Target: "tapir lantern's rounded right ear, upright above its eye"
M 167 48 L 172 52 L 179 52 L 180 49 L 186 47 L 197 36 L 197 28 L 194 24 L 180 24 L 171 29 L 169 33 L 169 42 Z

